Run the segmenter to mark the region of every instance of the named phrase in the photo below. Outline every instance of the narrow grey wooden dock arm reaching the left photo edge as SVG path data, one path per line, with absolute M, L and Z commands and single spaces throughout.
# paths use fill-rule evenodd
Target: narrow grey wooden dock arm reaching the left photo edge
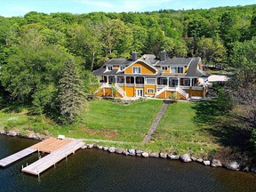
M 4 159 L 0 160 L 0 165 L 2 167 L 5 167 L 9 164 L 12 164 L 13 162 L 16 162 L 18 160 L 20 160 L 21 158 L 28 156 L 34 152 L 36 152 L 37 149 L 36 148 L 25 148 L 15 154 L 13 154 L 12 156 L 7 156 Z

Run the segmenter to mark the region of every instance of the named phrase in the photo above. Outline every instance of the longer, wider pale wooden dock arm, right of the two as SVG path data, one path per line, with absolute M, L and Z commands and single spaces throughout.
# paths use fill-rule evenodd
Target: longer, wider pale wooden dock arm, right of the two
M 39 175 L 52 165 L 57 164 L 60 160 L 68 155 L 75 153 L 78 148 L 82 148 L 84 142 L 77 140 L 69 140 L 69 142 L 58 150 L 53 151 L 51 154 L 44 156 L 33 164 L 29 164 L 23 168 L 22 172 L 28 172 L 30 174 Z

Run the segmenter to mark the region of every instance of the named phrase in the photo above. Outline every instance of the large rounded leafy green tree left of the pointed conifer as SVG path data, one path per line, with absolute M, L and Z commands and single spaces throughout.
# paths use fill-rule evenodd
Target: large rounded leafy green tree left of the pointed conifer
M 7 63 L 1 68 L 0 80 L 5 91 L 12 98 L 31 103 L 33 95 L 44 85 L 58 83 L 60 68 L 69 54 L 60 45 L 44 44 L 42 36 L 35 28 L 22 31 L 19 44 Z

